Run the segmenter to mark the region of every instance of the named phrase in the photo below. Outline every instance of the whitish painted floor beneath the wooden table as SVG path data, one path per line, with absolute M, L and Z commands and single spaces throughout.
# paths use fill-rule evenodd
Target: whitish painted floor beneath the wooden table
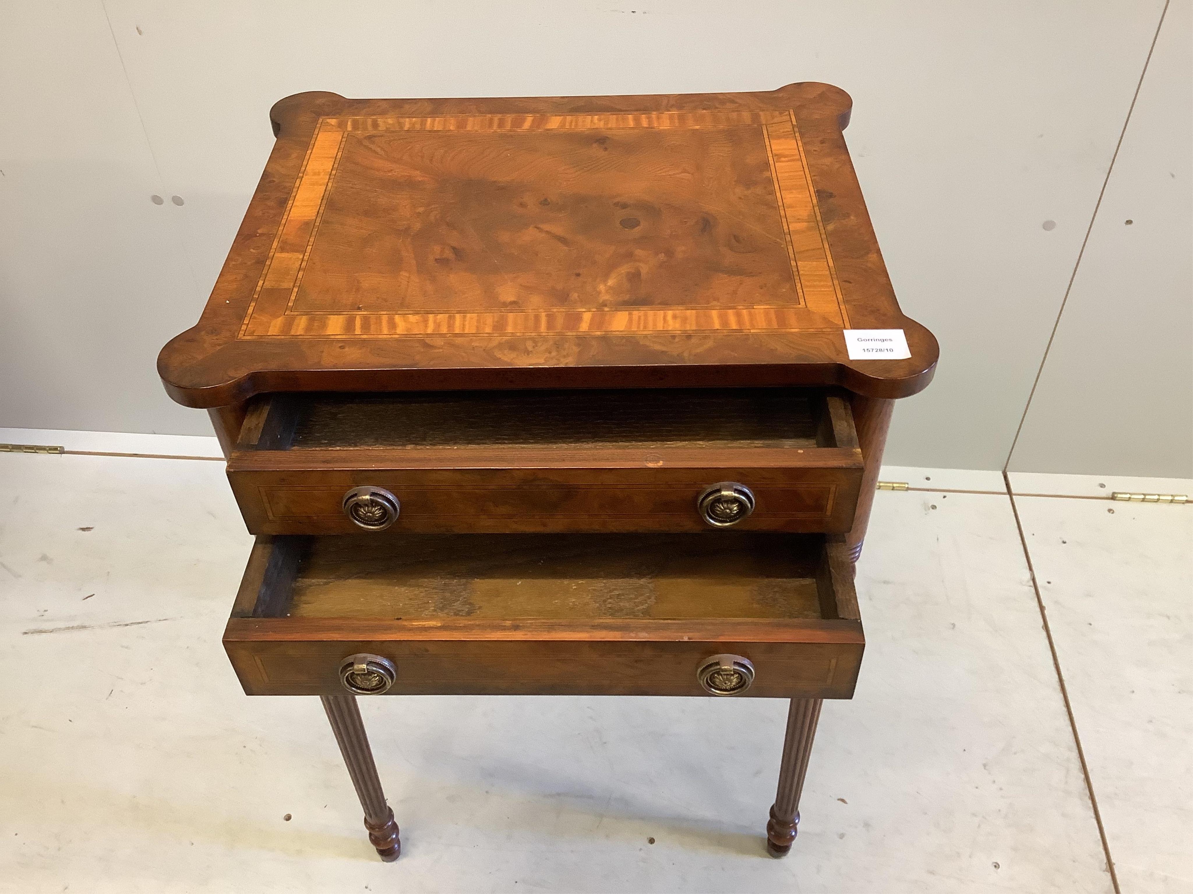
M 1193 507 L 1105 499 L 1193 483 L 885 477 L 923 490 L 877 496 L 789 858 L 781 701 L 365 699 L 383 864 L 317 700 L 224 657 L 222 465 L 0 454 L 0 890 L 1112 892 L 1107 851 L 1125 894 L 1193 890 Z

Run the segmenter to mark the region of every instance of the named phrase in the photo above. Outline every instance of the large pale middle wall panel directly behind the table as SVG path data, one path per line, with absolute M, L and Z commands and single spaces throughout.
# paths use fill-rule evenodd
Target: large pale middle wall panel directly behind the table
M 846 136 L 896 290 L 942 348 L 933 385 L 901 403 L 888 458 L 1001 467 L 1162 0 L 637 4 L 109 0 L 106 10 L 161 188 L 185 198 L 173 211 L 203 292 L 268 153 L 266 112 L 290 93 L 846 88 L 855 104 Z M 187 324 L 203 297 L 175 302 L 160 318 Z M 152 364 L 143 375 L 156 386 Z M 155 418 L 161 430 L 194 430 L 177 414 Z

